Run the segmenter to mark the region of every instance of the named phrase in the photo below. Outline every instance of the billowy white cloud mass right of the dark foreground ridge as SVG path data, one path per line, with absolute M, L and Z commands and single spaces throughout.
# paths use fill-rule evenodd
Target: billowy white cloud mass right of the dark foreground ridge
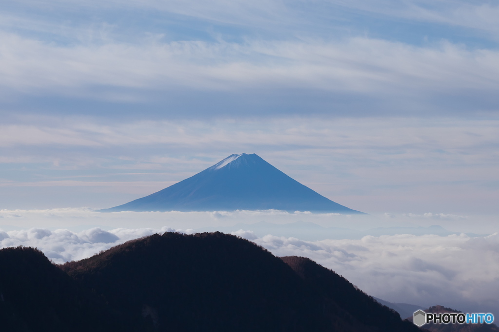
M 381 299 L 499 313 L 498 233 L 315 242 L 268 235 L 255 242 L 278 256 L 309 257 Z

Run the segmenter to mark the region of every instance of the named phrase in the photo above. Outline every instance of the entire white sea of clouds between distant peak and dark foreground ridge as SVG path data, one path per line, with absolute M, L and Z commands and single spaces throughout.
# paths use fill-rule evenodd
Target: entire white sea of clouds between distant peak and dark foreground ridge
M 448 220 L 456 227 L 465 218 L 435 213 L 419 217 L 430 218 L 431 221 Z M 393 224 L 394 219 L 411 218 L 415 215 L 389 215 L 386 217 L 388 221 L 382 225 L 388 225 L 388 222 Z M 236 220 L 256 222 L 262 219 L 281 224 L 286 220 L 313 220 L 337 226 L 344 226 L 347 222 L 358 228 L 366 226 L 359 221 L 362 217 L 282 211 L 99 213 L 84 208 L 1 210 L 0 248 L 37 247 L 54 263 L 60 264 L 90 257 L 117 244 L 154 233 L 190 234 L 203 225 L 228 225 Z M 125 226 L 113 227 L 118 220 Z M 367 220 L 372 222 L 374 219 Z M 377 219 L 378 222 L 380 220 L 383 219 Z M 108 227 L 92 225 L 96 221 Z M 36 223 L 51 226 L 36 227 L 33 225 Z M 134 227 L 130 227 L 132 223 Z M 163 226 L 159 227 L 161 224 Z M 185 227 L 180 228 L 182 224 Z M 286 237 L 269 233 L 257 236 L 248 224 L 246 229 L 231 233 L 253 241 L 276 256 L 311 258 L 344 276 L 367 294 L 383 300 L 423 307 L 440 304 L 465 312 L 499 314 L 497 232 L 483 236 L 464 233 L 448 236 L 396 234 L 305 241 L 299 235 Z

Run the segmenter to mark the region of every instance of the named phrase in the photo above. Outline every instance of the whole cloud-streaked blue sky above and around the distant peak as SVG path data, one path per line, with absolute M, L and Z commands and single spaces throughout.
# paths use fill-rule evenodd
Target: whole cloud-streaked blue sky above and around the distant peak
M 496 214 L 499 5 L 0 3 L 0 209 L 111 207 L 256 153 L 366 212 Z

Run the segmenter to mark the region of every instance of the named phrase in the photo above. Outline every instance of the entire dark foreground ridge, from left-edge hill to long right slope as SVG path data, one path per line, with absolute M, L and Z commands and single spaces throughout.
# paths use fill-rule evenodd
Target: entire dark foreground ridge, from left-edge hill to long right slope
M 307 258 L 219 232 L 155 234 L 62 266 L 7 248 L 0 266 L 2 331 L 420 331 Z

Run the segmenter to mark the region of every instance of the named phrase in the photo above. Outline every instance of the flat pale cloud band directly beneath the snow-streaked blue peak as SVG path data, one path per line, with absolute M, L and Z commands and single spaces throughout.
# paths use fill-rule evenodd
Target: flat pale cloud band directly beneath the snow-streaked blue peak
M 168 226 L 175 229 L 206 229 L 210 231 L 214 230 L 213 227 L 221 227 L 221 229 L 233 231 L 237 230 L 233 228 L 234 225 L 241 224 L 241 227 L 244 227 L 246 230 L 252 230 L 250 225 L 262 221 L 276 225 L 298 223 L 301 225 L 300 227 L 305 228 L 308 227 L 307 223 L 312 223 L 325 228 L 336 227 L 360 231 L 364 232 L 362 233 L 364 235 L 369 234 L 365 233 L 366 231 L 377 227 L 392 227 L 392 231 L 389 233 L 382 233 L 382 230 L 376 231 L 377 235 L 390 235 L 393 234 L 393 227 L 427 228 L 436 224 L 448 231 L 457 233 L 492 234 L 498 231 L 496 215 L 453 215 L 434 212 L 423 214 L 385 212 L 383 214 L 371 215 L 341 215 L 337 213 L 317 214 L 299 211 L 289 213 L 279 210 L 241 210 L 232 212 L 124 211 L 111 213 L 96 212 L 90 208 L 0 210 L 0 229 L 4 231 L 18 231 L 43 227 L 50 230 L 62 228 L 80 232 L 94 227 L 110 230 L 117 228 L 136 229 L 138 226 L 151 229 L 161 229 L 162 227 Z M 263 232 L 263 230 L 260 229 L 261 225 L 257 227 L 259 228 L 259 234 L 262 235 L 261 232 Z M 273 229 L 273 231 L 276 231 L 277 229 L 278 227 Z M 310 231 L 313 232 L 313 229 Z M 271 234 L 284 235 L 284 233 Z M 287 236 L 299 237 L 299 230 L 297 230 L 297 233 L 286 232 L 286 234 L 291 234 Z M 437 234 L 442 235 L 442 233 Z M 354 235 L 358 236 L 358 233 Z M 350 235 L 346 233 L 344 236 L 346 236 L 346 238 L 351 238 L 349 237 Z

